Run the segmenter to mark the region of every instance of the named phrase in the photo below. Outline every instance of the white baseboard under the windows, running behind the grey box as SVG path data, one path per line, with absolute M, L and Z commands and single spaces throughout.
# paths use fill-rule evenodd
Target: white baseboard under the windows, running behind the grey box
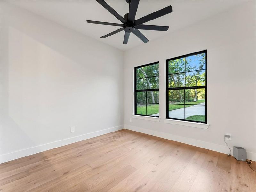
M 219 144 L 209 143 L 209 142 L 191 139 L 191 138 L 187 138 L 187 137 L 182 137 L 182 136 L 178 136 L 178 135 L 172 135 L 169 133 L 154 131 L 151 129 L 144 129 L 144 128 L 135 127 L 135 126 L 131 126 L 131 125 L 124 125 L 124 129 L 129 129 L 132 131 L 141 132 L 141 133 L 153 135 L 156 137 L 161 137 L 161 138 L 168 139 L 168 140 L 178 141 L 181 143 L 186 143 L 188 145 L 193 145 L 196 147 L 201 147 L 201 148 L 209 149 L 212 151 L 217 151 L 220 153 L 225 153 L 225 154 L 229 153 L 229 148 L 227 146 L 223 146 L 223 145 L 219 145 Z M 233 155 L 233 148 L 231 148 L 231 155 Z M 247 159 L 256 161 L 256 153 L 247 151 Z

